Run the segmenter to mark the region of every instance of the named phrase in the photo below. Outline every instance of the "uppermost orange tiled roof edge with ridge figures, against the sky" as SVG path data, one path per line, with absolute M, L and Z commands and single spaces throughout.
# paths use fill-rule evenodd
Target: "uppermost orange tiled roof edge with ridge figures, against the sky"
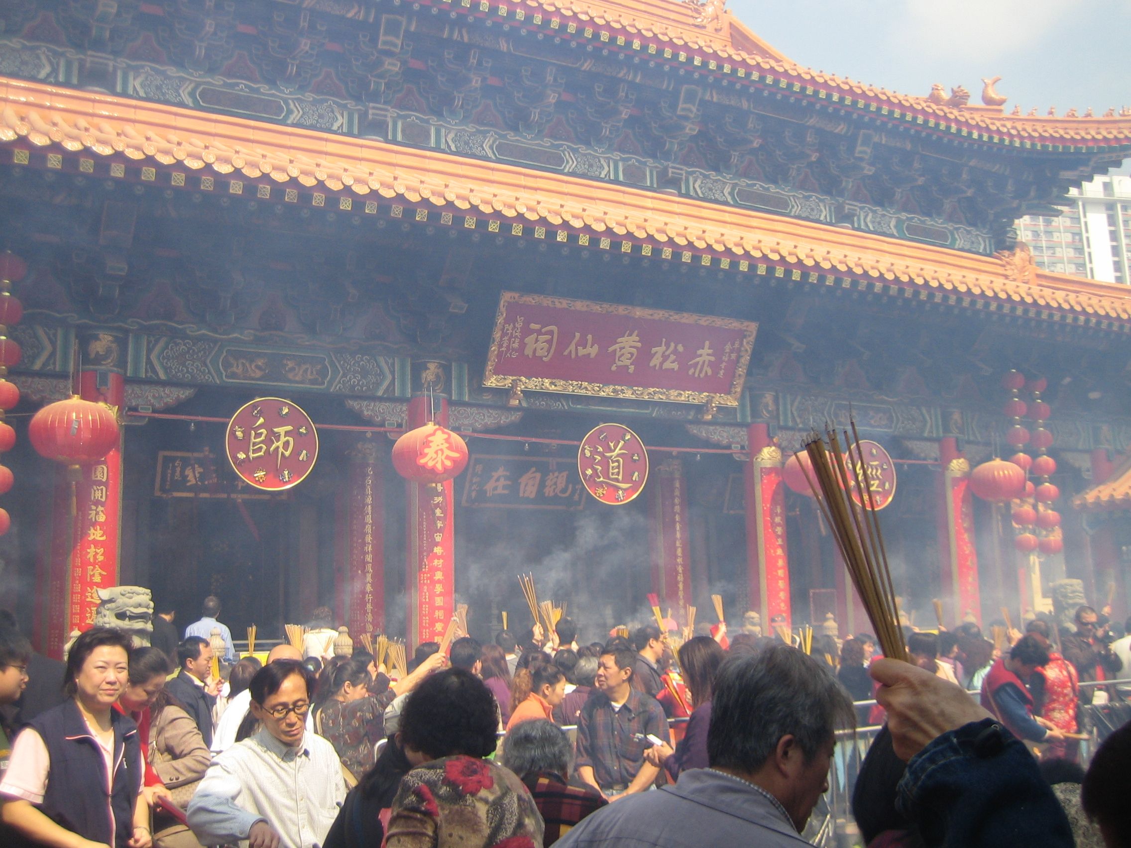
M 1057 150 L 1131 144 L 1131 114 L 1111 116 L 1009 115 L 998 107 L 947 106 L 793 62 L 723 9 L 725 0 L 433 0 L 435 6 L 477 6 L 504 20 L 606 50 L 687 64 L 733 79 L 770 85 L 793 96 L 863 110 L 923 131 L 1015 147 Z M 718 12 L 716 15 L 716 12 Z M 977 97 L 977 93 L 974 93 Z

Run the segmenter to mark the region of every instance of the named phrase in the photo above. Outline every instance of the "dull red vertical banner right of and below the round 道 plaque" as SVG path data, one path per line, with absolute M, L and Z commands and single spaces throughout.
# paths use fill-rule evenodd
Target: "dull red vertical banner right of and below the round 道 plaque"
M 667 459 L 651 482 L 653 574 L 662 606 L 682 618 L 691 603 L 691 546 L 688 542 L 687 482 L 683 464 Z

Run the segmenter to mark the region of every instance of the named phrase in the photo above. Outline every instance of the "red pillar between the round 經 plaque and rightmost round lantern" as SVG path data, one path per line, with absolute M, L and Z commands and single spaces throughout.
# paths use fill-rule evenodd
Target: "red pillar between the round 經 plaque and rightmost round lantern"
M 943 616 L 949 626 L 961 622 L 967 611 L 982 622 L 978 591 L 978 555 L 974 547 L 974 503 L 969 488 L 970 464 L 958 449 L 958 440 L 946 436 L 939 442 L 939 556 Z

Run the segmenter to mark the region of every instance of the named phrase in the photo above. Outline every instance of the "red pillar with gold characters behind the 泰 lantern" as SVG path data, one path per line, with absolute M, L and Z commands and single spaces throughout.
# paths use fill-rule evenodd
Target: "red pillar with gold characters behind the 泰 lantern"
M 447 399 L 420 396 L 408 401 L 408 429 L 424 426 L 431 409 L 434 409 L 432 421 L 448 426 Z M 440 641 L 456 612 L 454 491 L 452 481 L 405 484 L 408 517 L 406 623 L 412 646 Z

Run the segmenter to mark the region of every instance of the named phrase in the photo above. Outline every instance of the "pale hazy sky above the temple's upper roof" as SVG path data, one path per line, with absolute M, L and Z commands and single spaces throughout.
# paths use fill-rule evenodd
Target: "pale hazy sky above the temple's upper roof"
M 905 94 L 982 77 L 1028 112 L 1131 105 L 1131 0 L 729 0 L 800 64 Z

